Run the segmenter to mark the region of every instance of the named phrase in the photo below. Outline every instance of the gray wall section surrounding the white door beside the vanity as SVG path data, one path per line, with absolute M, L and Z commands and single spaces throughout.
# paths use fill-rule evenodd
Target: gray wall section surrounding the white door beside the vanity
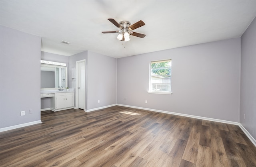
M 72 80 L 72 70 L 73 72 L 73 77 L 76 78 L 76 61 L 80 61 L 80 60 L 84 60 L 86 59 L 85 63 L 85 67 L 86 67 L 86 73 L 87 73 L 87 56 L 88 55 L 88 51 L 84 51 L 81 53 L 77 53 L 75 55 L 69 56 L 68 57 L 68 65 L 69 65 L 69 69 L 68 69 L 68 74 L 69 74 L 69 78 L 68 78 L 68 85 L 70 88 L 74 88 L 74 106 L 76 106 L 76 79 Z M 86 75 L 87 77 L 87 75 Z M 86 79 L 87 82 L 87 79 Z M 87 92 L 87 84 L 86 84 L 86 92 Z M 87 99 L 87 93 L 86 93 L 86 97 L 85 99 Z M 87 100 L 85 101 L 85 106 L 87 106 Z

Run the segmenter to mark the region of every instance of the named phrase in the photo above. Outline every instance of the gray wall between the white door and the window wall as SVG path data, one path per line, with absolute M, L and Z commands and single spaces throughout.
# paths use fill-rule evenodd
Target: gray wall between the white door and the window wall
M 88 89 L 86 109 L 116 104 L 116 59 L 88 51 L 86 61 Z

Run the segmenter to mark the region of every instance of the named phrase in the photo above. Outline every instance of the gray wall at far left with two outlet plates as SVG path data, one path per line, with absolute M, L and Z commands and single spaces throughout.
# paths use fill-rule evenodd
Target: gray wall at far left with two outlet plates
M 4 26 L 0 34 L 0 128 L 40 121 L 41 38 Z

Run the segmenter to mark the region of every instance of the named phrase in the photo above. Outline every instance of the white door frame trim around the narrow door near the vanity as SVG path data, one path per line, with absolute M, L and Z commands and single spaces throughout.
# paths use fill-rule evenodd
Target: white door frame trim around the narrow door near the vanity
M 84 62 L 84 83 L 86 83 L 86 60 L 85 59 L 83 59 L 83 60 L 79 60 L 79 61 L 76 61 L 76 109 L 77 108 L 79 108 L 79 96 L 78 96 L 78 82 L 79 82 L 79 63 L 82 63 L 82 62 Z M 86 101 L 86 99 L 85 99 L 85 93 L 86 93 L 86 85 L 85 85 L 85 88 L 84 88 L 84 111 L 86 111 L 86 105 L 85 105 L 85 101 Z

